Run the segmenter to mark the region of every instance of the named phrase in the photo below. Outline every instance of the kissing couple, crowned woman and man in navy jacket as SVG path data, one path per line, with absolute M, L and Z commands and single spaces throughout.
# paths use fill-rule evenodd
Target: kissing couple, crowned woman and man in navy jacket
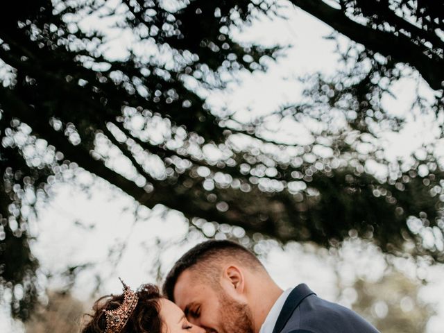
M 378 333 L 306 284 L 283 291 L 259 259 L 232 241 L 198 244 L 153 284 L 96 301 L 82 333 Z

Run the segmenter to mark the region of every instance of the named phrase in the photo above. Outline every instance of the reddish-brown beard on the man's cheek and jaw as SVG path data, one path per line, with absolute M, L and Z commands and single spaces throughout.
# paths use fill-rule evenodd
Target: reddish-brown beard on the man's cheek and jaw
M 221 328 L 219 333 L 253 333 L 253 314 L 247 304 L 230 298 L 225 291 L 219 294 Z

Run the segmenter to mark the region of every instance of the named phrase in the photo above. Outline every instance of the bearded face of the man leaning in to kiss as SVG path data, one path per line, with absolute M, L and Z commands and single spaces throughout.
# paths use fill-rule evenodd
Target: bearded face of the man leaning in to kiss
M 246 303 L 232 298 L 222 286 L 196 278 L 186 270 L 174 288 L 174 301 L 194 325 L 212 333 L 253 333 L 253 318 Z

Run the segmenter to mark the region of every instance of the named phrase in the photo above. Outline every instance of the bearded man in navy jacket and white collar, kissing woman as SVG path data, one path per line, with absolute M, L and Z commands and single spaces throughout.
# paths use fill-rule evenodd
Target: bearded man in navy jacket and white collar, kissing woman
M 173 266 L 167 296 L 211 333 L 377 333 L 355 312 L 307 285 L 282 291 L 259 259 L 232 241 L 205 241 Z

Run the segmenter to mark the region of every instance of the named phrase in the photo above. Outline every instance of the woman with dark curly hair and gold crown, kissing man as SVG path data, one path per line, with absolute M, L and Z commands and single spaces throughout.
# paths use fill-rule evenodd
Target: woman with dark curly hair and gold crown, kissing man
M 82 333 L 205 333 L 189 323 L 177 305 L 160 296 L 153 284 L 144 284 L 136 292 L 122 284 L 121 295 L 95 302 Z

